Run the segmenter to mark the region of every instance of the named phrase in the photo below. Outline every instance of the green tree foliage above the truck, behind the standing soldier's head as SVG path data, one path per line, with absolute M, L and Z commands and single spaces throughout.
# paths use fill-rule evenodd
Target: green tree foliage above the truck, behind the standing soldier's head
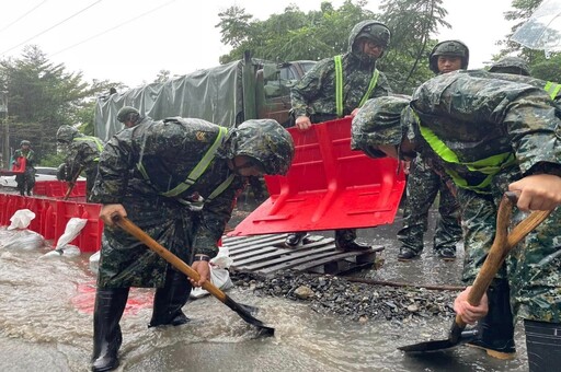
M 364 20 L 380 20 L 392 32 L 390 48 L 378 67 L 398 93 L 411 94 L 420 83 L 433 77 L 428 69 L 427 54 L 434 40 L 430 35 L 439 26 L 449 27 L 444 21 L 447 12 L 442 0 L 385 0 L 382 14 L 366 9 L 366 0 L 345 1 L 339 9 L 323 2 L 319 11 L 305 13 L 296 5 L 273 14 L 265 21 L 254 20 L 239 7 L 219 13 L 221 42 L 232 50 L 220 57 L 221 63 L 241 59 L 244 50 L 253 56 L 273 61 L 319 60 L 348 50 L 348 34 Z

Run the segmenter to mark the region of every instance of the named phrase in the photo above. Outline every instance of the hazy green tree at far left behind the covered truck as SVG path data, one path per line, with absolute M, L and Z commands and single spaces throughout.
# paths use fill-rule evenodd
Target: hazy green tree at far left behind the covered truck
M 27 139 L 39 159 L 56 153 L 58 127 L 81 124 L 88 132 L 93 128 L 95 96 L 113 85 L 94 81 L 90 86 L 81 72 L 51 63 L 37 46 L 26 46 L 21 58 L 0 61 L 0 89 L 9 98 L 10 147 L 19 148 Z

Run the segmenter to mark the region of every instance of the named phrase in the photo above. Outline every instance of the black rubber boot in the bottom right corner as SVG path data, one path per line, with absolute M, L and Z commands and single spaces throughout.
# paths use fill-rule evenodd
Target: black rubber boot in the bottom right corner
M 558 371 L 561 365 L 561 324 L 524 319 L 529 372 Z

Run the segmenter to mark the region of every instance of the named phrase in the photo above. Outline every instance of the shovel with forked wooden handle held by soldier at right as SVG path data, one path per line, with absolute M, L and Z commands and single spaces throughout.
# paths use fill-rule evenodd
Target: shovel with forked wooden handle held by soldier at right
M 468 297 L 468 302 L 472 305 L 479 304 L 489 284 L 501 268 L 505 257 L 508 255 L 508 252 L 551 213 L 550 210 L 534 211 L 524 221 L 518 223 L 507 235 L 508 223 L 516 200 L 516 194 L 510 191 L 505 193 L 501 200 L 496 216 L 496 233 L 493 245 L 489 251 L 485 261 L 473 282 Z M 459 315 L 456 315 L 448 339 L 402 346 L 398 349 L 409 353 L 446 350 L 468 342 L 477 336 L 476 330 L 465 332 L 463 328 L 466 328 L 466 323 L 463 323 Z

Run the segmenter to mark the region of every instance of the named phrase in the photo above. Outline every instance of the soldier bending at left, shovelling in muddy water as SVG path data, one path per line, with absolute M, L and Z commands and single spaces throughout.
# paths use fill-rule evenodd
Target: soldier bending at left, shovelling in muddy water
M 272 119 L 227 129 L 202 119 L 145 118 L 105 146 L 92 200 L 105 223 L 94 307 L 93 371 L 118 365 L 119 319 L 130 287 L 156 287 L 149 327 L 178 326 L 192 284 L 209 280 L 208 261 L 251 175 L 285 174 L 294 156 L 290 135 Z M 196 205 L 195 205 L 196 204 Z M 127 217 L 181 259 L 201 281 L 190 282 L 135 237 L 114 226 Z M 194 245 L 196 242 L 196 245 Z

